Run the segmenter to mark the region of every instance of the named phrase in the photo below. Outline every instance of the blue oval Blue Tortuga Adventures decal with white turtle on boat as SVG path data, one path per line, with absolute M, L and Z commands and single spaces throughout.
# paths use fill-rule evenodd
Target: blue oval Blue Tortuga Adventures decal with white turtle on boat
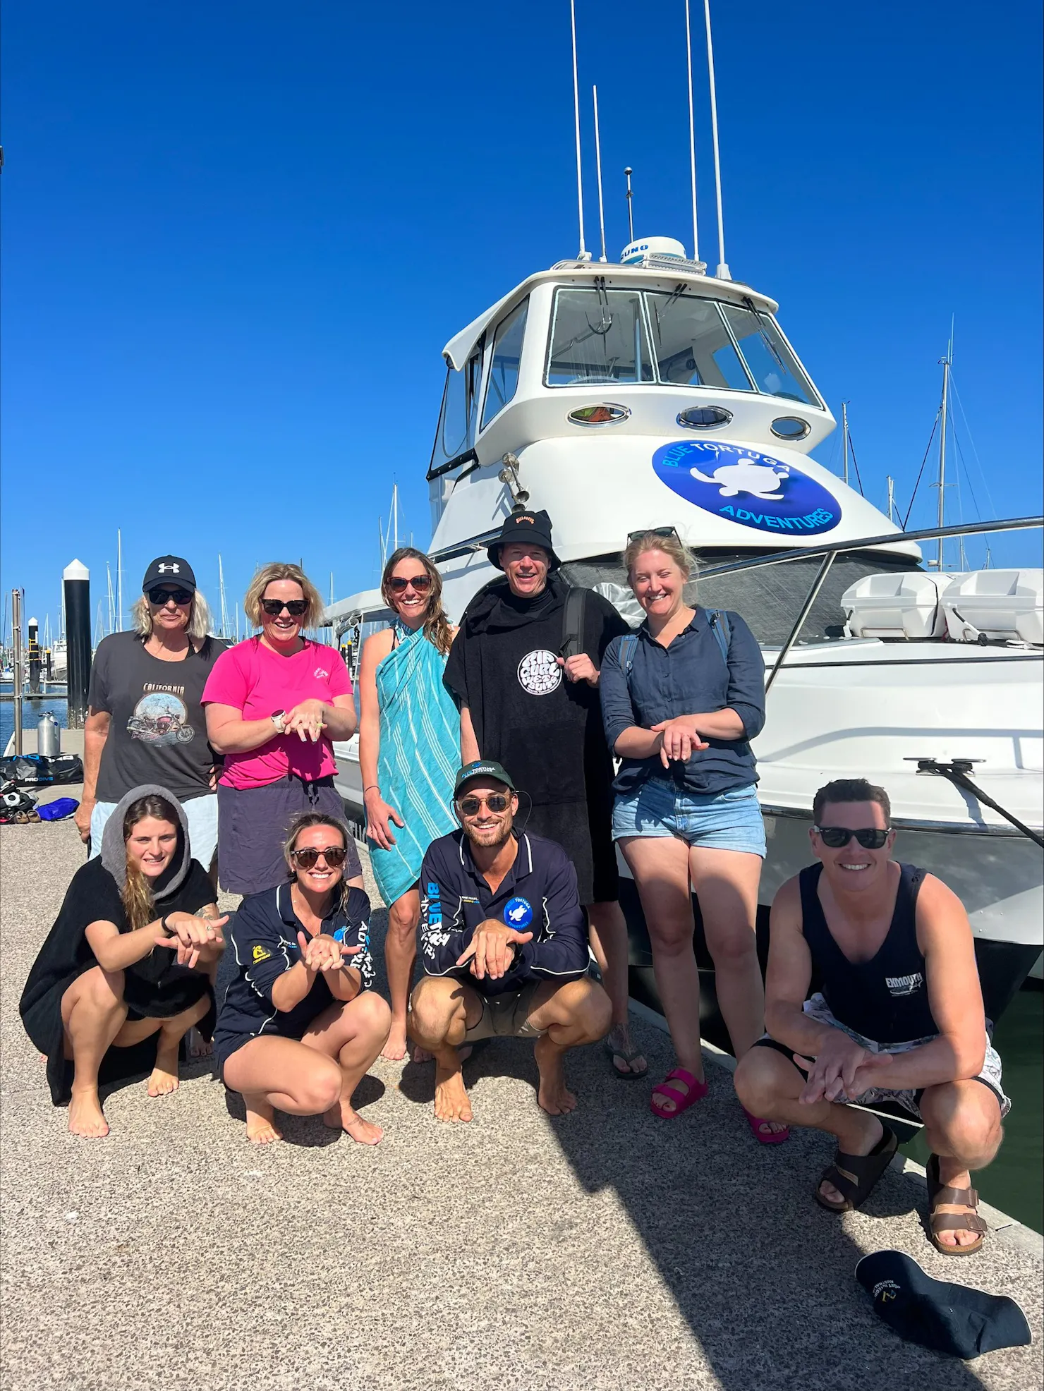
M 756 531 L 819 536 L 841 520 L 841 504 L 822 483 L 770 453 L 710 440 L 677 440 L 652 466 L 680 498 Z

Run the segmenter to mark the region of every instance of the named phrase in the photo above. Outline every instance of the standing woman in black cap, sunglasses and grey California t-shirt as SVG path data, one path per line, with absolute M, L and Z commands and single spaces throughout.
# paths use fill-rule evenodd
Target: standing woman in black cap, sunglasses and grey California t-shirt
M 199 701 L 227 644 L 207 634 L 207 602 L 179 555 L 152 562 L 131 619 L 128 632 L 101 638 L 90 668 L 76 828 L 92 854 L 100 854 L 115 804 L 131 787 L 157 783 L 185 808 L 192 855 L 210 871 L 217 793 Z

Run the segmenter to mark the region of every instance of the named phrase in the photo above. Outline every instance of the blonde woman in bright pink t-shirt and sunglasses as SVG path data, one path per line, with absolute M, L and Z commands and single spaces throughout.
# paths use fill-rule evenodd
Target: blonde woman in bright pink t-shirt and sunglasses
M 218 787 L 218 874 L 229 893 L 286 879 L 282 844 L 300 811 L 343 818 L 332 743 L 356 730 L 352 679 L 332 647 L 302 637 L 323 600 L 296 565 L 263 566 L 243 600 L 256 637 L 224 651 L 203 689 L 207 737 L 224 755 Z M 363 885 L 349 842 L 345 881 Z

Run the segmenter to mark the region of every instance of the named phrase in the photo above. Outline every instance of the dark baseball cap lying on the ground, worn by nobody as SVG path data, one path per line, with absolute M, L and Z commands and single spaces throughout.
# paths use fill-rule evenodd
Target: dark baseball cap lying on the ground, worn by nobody
M 855 1267 L 855 1278 L 876 1312 L 909 1342 L 955 1358 L 977 1358 L 997 1348 L 1031 1342 L 1026 1314 L 1008 1295 L 948 1284 L 926 1276 L 901 1251 L 874 1251 Z

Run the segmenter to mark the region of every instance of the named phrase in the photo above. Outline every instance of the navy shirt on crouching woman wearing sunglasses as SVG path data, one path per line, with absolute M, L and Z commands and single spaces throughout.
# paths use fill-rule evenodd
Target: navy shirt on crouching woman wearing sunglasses
M 359 971 L 363 989 L 368 989 L 374 981 L 374 964 L 370 957 L 370 900 L 366 892 L 350 887 L 343 904 L 324 918 L 321 931 L 338 942 L 361 946 L 363 950 L 350 957 L 350 964 Z M 236 975 L 218 1010 L 214 1031 L 218 1052 L 231 1052 L 228 1045 L 234 1039 L 245 1042 L 260 1034 L 299 1039 L 316 1015 L 335 1003 L 325 978 L 318 974 L 309 993 L 292 1010 L 277 1010 L 272 1004 L 272 986 L 284 971 L 289 971 L 300 960 L 299 932 L 307 936 L 293 911 L 289 883 L 243 899 L 225 929 Z

